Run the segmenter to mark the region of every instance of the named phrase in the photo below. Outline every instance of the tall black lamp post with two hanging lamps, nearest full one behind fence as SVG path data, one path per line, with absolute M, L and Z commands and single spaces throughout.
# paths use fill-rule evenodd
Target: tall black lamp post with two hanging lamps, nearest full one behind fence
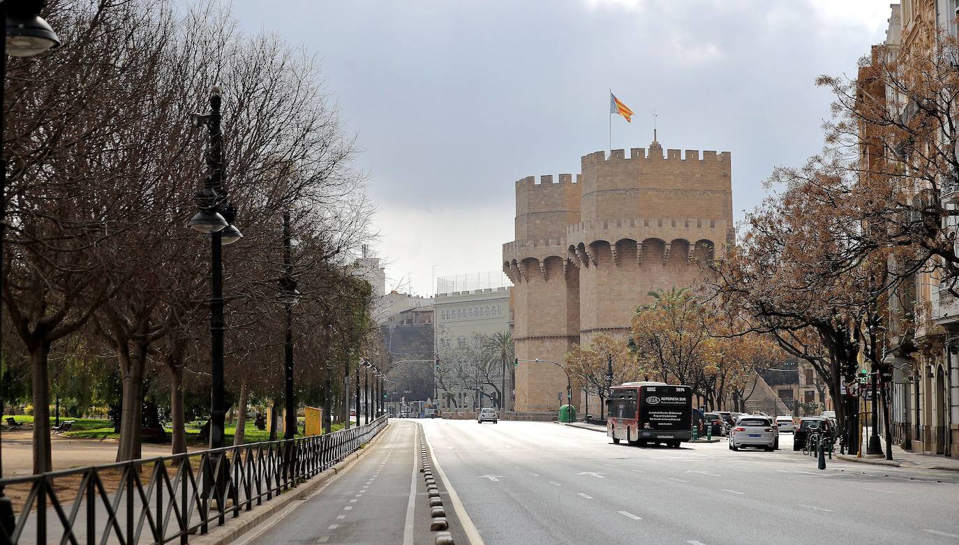
M 243 238 L 233 225 L 236 209 L 227 199 L 223 188 L 223 136 L 220 131 L 220 87 L 210 92 L 210 113 L 198 115 L 199 123 L 206 125 L 209 142 L 204 154 L 209 173 L 203 189 L 197 193 L 199 212 L 190 220 L 190 226 L 209 236 L 211 241 L 211 296 L 210 296 L 210 448 L 223 446 L 223 262 L 222 247 Z

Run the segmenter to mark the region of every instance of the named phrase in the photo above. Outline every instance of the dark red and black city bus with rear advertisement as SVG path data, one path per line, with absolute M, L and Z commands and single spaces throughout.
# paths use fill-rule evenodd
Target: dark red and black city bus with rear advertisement
M 619 444 L 665 443 L 692 438 L 692 389 L 665 382 L 626 382 L 610 389 L 606 435 Z

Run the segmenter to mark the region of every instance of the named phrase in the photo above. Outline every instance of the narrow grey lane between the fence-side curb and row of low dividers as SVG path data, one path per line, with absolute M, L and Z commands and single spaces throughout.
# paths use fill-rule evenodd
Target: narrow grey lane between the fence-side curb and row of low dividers
M 256 545 L 315 543 L 433 544 L 433 520 L 419 472 L 417 421 L 392 419 L 360 461 L 333 477 L 298 506 L 271 517 L 238 542 Z M 444 507 L 445 487 L 437 483 Z M 453 509 L 447 518 L 456 543 L 466 543 Z

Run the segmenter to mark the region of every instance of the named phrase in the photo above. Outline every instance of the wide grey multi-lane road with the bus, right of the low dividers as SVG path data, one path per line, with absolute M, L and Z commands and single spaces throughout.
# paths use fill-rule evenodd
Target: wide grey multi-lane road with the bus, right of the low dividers
M 959 543 L 959 473 L 821 471 L 789 434 L 776 452 L 733 452 L 613 445 L 555 423 L 418 421 L 489 544 Z

